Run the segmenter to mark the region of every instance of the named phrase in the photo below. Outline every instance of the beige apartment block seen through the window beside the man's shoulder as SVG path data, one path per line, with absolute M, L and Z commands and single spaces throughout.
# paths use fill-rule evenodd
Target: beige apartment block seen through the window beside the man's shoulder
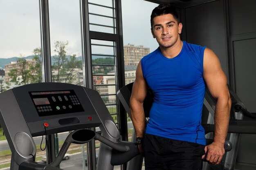
M 124 46 L 124 65 L 138 65 L 142 57 L 149 54 L 149 48 L 128 44 Z

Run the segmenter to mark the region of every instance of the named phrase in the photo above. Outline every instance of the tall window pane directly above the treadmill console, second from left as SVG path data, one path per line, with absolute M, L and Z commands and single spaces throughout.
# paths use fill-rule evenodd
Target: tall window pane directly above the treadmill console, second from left
M 49 0 L 52 82 L 83 85 L 79 0 Z

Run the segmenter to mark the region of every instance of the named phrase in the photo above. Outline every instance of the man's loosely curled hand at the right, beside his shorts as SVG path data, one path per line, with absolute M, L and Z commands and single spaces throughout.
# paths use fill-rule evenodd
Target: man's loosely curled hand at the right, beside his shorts
M 205 155 L 202 156 L 202 159 L 206 157 L 206 160 L 211 164 L 220 164 L 223 155 L 225 154 L 225 149 L 223 144 L 212 143 L 208 146 L 205 146 Z

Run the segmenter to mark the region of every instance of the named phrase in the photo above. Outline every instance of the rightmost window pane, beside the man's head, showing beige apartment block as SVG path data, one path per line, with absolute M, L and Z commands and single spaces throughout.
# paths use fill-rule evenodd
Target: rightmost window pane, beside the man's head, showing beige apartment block
M 158 47 L 150 32 L 150 15 L 155 7 L 157 4 L 145 0 L 122 0 L 126 84 L 134 82 L 135 71 L 140 59 Z M 146 18 L 146 20 L 142 18 Z M 131 44 L 134 45 L 131 46 Z M 130 77 L 131 75 L 132 77 Z M 128 116 L 127 126 L 128 131 L 133 129 Z M 128 133 L 129 140 L 131 140 L 132 133 L 134 132 Z

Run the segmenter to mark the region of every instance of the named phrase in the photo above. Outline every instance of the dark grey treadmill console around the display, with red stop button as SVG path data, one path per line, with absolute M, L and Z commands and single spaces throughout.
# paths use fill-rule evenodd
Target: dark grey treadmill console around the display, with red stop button
M 79 85 L 34 83 L 10 89 L 7 93 L 0 95 L 2 100 L 10 100 L 9 105 L 3 107 L 22 115 L 23 124 L 28 126 L 33 137 L 97 127 L 101 124 L 99 112 L 109 113 L 97 91 Z

